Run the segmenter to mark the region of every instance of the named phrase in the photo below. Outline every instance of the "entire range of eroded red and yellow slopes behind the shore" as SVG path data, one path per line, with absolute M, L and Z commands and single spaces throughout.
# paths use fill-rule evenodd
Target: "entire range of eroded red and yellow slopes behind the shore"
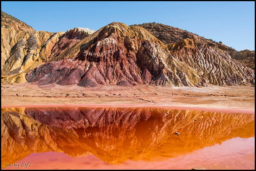
M 231 48 L 187 36 L 180 29 L 170 29 L 173 38 L 168 40 L 165 34 L 157 36 L 148 28 L 123 23 L 111 23 L 96 32 L 1 29 L 2 82 L 83 87 L 254 86 L 254 70 L 222 50 Z

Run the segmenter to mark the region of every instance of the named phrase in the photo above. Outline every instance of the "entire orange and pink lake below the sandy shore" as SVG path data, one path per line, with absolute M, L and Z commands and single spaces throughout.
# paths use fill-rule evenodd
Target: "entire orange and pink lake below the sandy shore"
M 32 162 L 29 169 L 255 167 L 251 114 L 153 108 L 2 109 L 2 137 L 2 166 L 3 160 L 16 157 L 17 163 Z M 10 143 L 23 148 L 3 153 Z

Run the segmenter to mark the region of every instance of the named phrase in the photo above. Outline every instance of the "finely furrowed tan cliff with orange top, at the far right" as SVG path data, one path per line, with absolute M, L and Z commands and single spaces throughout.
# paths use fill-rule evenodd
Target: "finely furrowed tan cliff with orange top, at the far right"
M 185 39 L 169 45 L 172 54 L 197 71 L 212 85 L 254 85 L 254 70 L 248 68 L 229 54 L 206 43 Z

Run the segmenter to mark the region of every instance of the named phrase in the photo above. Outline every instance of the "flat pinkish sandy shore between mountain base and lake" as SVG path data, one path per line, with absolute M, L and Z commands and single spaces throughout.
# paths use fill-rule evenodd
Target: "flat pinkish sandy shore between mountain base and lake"
M 1 107 L 158 107 L 254 114 L 254 87 L 2 85 Z

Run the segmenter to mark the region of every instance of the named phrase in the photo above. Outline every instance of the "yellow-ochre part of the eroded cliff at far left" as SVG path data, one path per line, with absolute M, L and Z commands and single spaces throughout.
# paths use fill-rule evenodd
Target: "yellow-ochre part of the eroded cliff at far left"
M 41 55 L 42 46 L 51 48 L 62 34 L 47 31 L 14 31 L 11 28 L 1 28 L 1 31 L 1 75 L 4 80 L 11 83 L 26 82 L 26 72 L 44 63 L 45 56 Z M 48 39 L 51 41 L 47 41 Z

